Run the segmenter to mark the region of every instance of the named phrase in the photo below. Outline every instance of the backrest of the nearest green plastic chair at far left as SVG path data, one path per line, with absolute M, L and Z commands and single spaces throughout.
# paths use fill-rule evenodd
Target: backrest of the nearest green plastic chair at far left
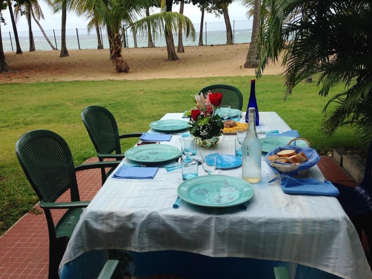
M 59 135 L 48 130 L 27 132 L 17 141 L 16 154 L 40 200 L 55 202 L 70 189 L 71 201 L 80 201 L 71 151 Z

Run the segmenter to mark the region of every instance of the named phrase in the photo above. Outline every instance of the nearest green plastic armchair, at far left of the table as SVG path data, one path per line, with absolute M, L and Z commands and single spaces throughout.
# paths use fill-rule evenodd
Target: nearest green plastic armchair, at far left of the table
M 25 175 L 40 199 L 49 232 L 49 278 L 58 277 L 61 262 L 71 234 L 89 201 L 80 201 L 76 171 L 116 167 L 120 161 L 81 164 L 74 167 L 67 143 L 56 133 L 35 130 L 22 135 L 16 143 L 16 154 Z M 55 202 L 70 190 L 71 202 Z M 54 225 L 51 209 L 67 209 Z

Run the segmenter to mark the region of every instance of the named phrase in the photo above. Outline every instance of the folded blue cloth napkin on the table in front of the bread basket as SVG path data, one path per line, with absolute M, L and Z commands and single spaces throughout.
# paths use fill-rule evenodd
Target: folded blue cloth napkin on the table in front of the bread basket
M 314 178 L 292 178 L 282 177 L 280 186 L 286 194 L 308 194 L 321 196 L 338 196 L 339 190 L 331 182 L 324 179 L 324 182 Z

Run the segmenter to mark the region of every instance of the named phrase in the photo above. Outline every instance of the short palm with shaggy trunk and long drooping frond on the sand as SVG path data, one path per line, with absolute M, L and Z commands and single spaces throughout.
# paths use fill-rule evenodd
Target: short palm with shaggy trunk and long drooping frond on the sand
M 195 29 L 191 20 L 179 13 L 166 12 L 164 1 L 155 3 L 153 0 L 77 0 L 71 8 L 86 11 L 86 15 L 94 14 L 100 25 L 106 27 L 112 46 L 112 58 L 117 72 L 128 72 L 129 66 L 122 57 L 122 33 L 134 28 L 142 36 L 148 34 L 148 29 L 160 35 L 178 31 L 179 26 L 186 32 L 187 37 L 195 39 Z M 145 16 L 146 8 L 160 6 L 161 11 Z M 141 18 L 142 17 L 142 18 Z M 140 19 L 138 19 L 140 18 Z M 122 23 L 128 22 L 122 29 Z M 90 23 L 91 24 L 91 23 Z

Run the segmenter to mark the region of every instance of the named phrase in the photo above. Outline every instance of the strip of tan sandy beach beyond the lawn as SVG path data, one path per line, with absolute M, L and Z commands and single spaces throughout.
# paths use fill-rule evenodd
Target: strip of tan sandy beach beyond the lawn
M 6 52 L 8 65 L 17 73 L 0 74 L 0 83 L 254 75 L 254 69 L 243 67 L 248 48 L 249 44 L 185 47 L 178 61 L 166 61 L 165 47 L 124 48 L 128 74 L 115 73 L 108 49 L 69 50 L 70 56 L 63 58 L 59 51 Z M 267 65 L 264 74 L 281 74 L 280 63 Z

